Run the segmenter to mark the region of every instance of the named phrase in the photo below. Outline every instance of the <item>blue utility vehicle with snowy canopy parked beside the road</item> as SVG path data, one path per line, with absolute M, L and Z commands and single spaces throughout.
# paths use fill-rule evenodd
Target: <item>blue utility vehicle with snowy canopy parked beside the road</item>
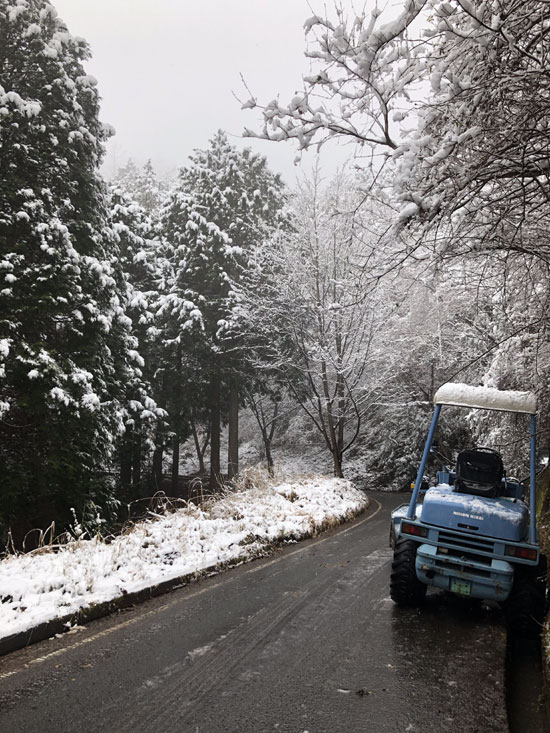
M 499 601 L 512 633 L 535 637 L 546 606 L 546 558 L 536 527 L 536 397 L 444 384 L 409 504 L 392 512 L 394 547 L 390 595 L 400 606 L 422 602 L 427 586 L 461 596 Z M 444 405 L 502 410 L 530 416 L 529 500 L 517 479 L 507 478 L 500 455 L 488 448 L 458 454 L 456 469 L 438 473 L 420 501 L 422 478 Z

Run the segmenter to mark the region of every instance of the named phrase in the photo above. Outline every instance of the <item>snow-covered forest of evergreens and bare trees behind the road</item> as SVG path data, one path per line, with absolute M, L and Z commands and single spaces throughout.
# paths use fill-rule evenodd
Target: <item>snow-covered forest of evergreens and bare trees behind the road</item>
M 534 390 L 544 466 L 546 3 L 407 2 L 382 29 L 335 7 L 306 31 L 304 92 L 251 97 L 247 134 L 350 140 L 344 170 L 288 187 L 213 131 L 176 180 L 106 181 L 85 41 L 47 0 L 0 0 L 2 542 L 258 461 L 407 487 L 449 380 Z M 451 411 L 438 441 L 521 478 L 524 436 Z

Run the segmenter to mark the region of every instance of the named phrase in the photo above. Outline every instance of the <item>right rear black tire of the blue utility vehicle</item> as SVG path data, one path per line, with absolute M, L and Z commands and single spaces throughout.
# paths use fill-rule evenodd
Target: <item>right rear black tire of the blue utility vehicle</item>
M 523 639 L 537 639 L 546 613 L 546 557 L 536 568 L 517 566 L 512 592 L 505 605 L 508 633 Z

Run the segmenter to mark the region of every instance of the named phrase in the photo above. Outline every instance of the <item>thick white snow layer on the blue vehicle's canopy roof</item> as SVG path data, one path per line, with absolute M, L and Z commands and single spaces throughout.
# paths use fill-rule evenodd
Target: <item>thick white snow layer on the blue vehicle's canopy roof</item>
M 533 392 L 503 391 L 493 387 L 470 387 L 468 384 L 453 382 L 448 382 L 437 390 L 434 404 L 526 412 L 530 415 L 534 415 L 537 411 L 537 398 Z

